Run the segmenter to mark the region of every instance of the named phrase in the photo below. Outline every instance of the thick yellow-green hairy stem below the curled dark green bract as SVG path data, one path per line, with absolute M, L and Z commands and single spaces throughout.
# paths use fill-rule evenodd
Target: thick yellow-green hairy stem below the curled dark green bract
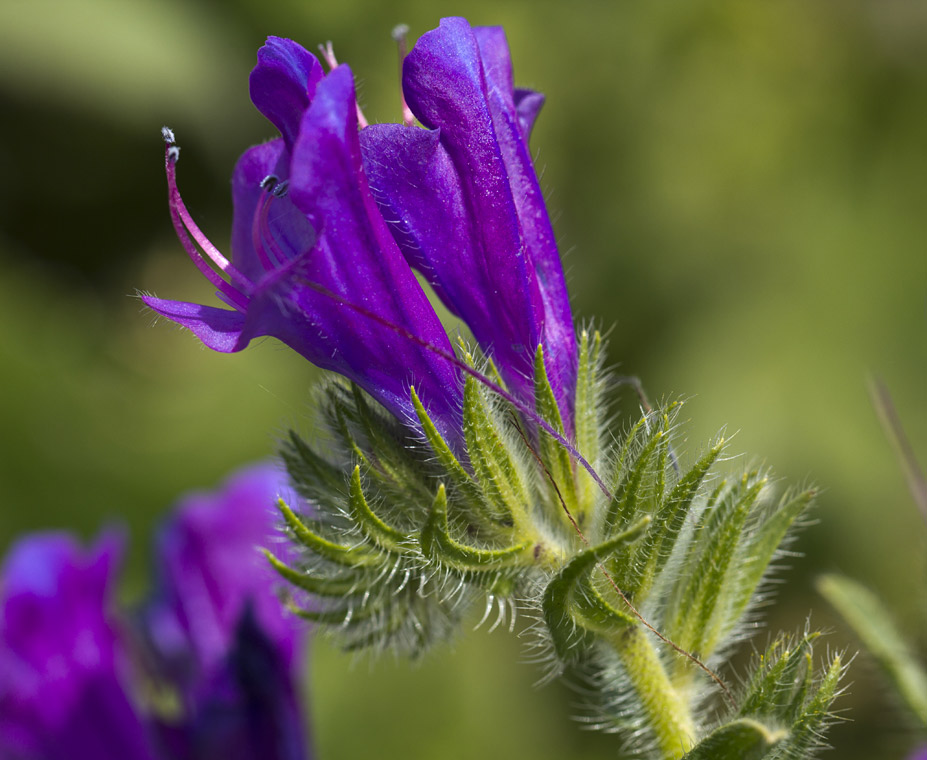
M 695 746 L 695 724 L 670 683 L 663 663 L 640 626 L 611 637 L 666 760 L 678 760 Z

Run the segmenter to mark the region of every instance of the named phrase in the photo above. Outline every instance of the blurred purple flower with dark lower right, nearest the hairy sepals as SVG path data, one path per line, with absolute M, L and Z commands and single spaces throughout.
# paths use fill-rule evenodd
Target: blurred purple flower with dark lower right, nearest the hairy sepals
M 273 502 L 285 490 L 275 467 L 244 470 L 183 499 L 158 537 L 156 593 L 140 628 L 192 718 L 167 732 L 174 754 L 304 757 L 305 624 L 283 609 L 278 576 L 257 551 L 273 539 Z

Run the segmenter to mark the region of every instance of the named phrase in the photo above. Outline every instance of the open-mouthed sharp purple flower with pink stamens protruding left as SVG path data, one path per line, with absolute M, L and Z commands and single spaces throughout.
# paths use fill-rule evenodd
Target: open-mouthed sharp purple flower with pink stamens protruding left
M 441 432 L 458 441 L 460 382 L 439 353 L 453 349 L 370 193 L 350 69 L 323 76 L 303 48 L 271 37 L 251 74 L 251 97 L 282 137 L 251 148 L 235 168 L 231 261 L 187 212 L 175 184 L 177 148 L 167 151 L 178 235 L 231 310 L 149 296 L 145 303 L 216 351 L 278 338 L 404 421 L 415 419 L 414 385 Z

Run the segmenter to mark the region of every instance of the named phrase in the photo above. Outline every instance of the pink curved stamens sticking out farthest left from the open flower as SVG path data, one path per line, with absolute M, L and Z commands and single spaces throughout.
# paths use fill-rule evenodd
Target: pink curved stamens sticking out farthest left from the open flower
M 173 133 L 171 133 L 173 137 Z M 180 190 L 177 189 L 177 156 L 179 155 L 176 145 L 168 144 L 164 152 L 164 167 L 167 173 L 167 190 L 168 190 L 168 208 L 171 212 L 171 221 L 174 223 L 174 230 L 177 237 L 183 245 L 187 255 L 196 264 L 197 269 L 203 276 L 219 290 L 228 302 L 236 308 L 244 311 L 248 305 L 248 297 L 245 293 L 251 289 L 251 282 L 244 277 L 231 262 L 222 255 L 210 240 L 203 234 L 202 230 L 197 227 L 190 212 L 184 205 L 183 198 L 180 197 Z M 192 238 L 192 239 L 191 239 Z M 195 241 L 195 242 L 194 242 Z M 199 245 L 199 249 L 197 248 Z M 232 283 L 226 282 L 203 258 L 205 253 L 215 263 L 219 269 L 229 275 Z

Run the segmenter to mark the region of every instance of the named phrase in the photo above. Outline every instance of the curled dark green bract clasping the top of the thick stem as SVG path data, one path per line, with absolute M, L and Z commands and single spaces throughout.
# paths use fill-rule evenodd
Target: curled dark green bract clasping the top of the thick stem
M 564 661 L 579 654 L 591 640 L 593 630 L 601 630 L 609 623 L 623 628 L 637 622 L 631 613 L 615 609 L 602 598 L 592 584 L 592 571 L 599 562 L 636 539 L 649 523 L 650 517 L 645 516 L 624 533 L 586 549 L 547 584 L 542 602 L 544 622 L 554 649 Z

